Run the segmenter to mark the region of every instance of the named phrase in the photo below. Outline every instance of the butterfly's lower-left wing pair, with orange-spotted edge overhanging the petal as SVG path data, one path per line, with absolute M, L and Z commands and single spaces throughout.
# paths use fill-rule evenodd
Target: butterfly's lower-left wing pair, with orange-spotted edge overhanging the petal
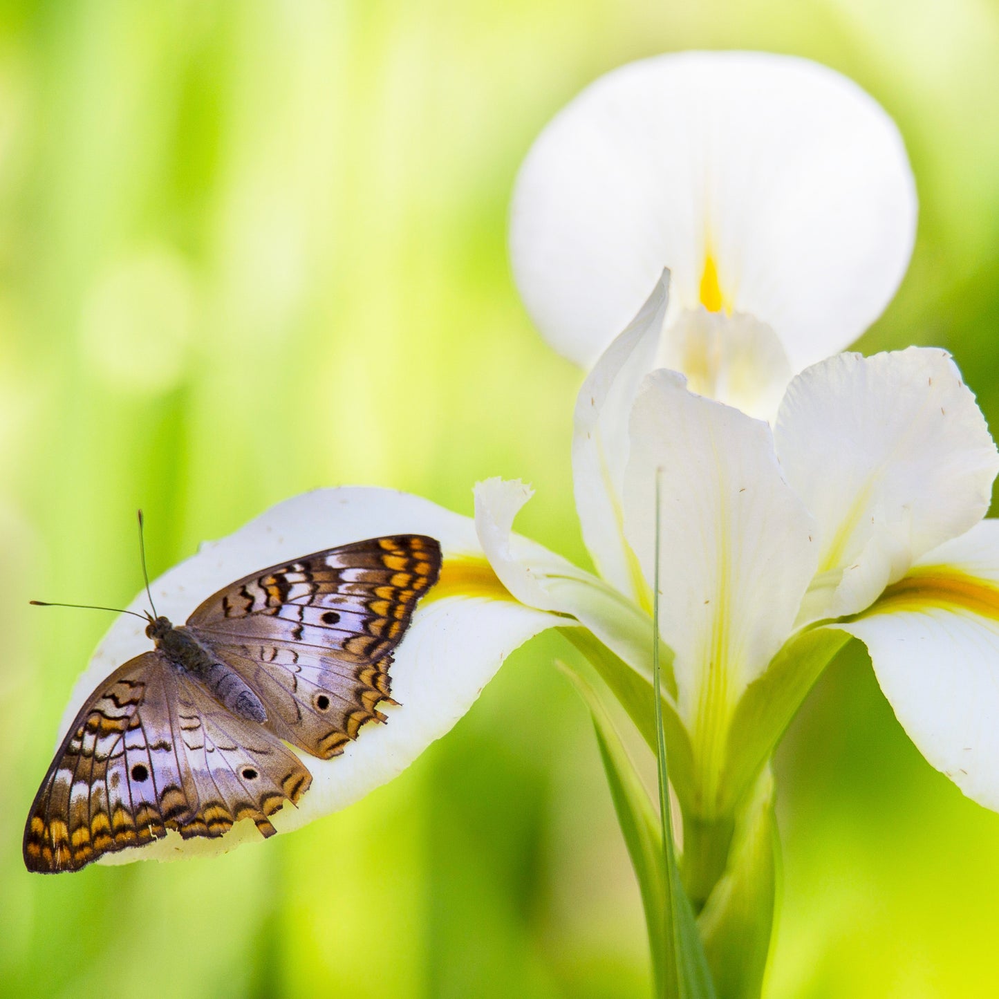
M 196 725 L 188 715 L 197 710 L 206 716 Z M 247 815 L 270 835 L 267 815 L 299 799 L 309 771 L 259 726 L 233 718 L 223 729 L 212 712 L 226 713 L 158 652 L 112 673 L 77 714 L 35 796 L 24 830 L 28 869 L 75 871 L 167 829 L 221 835 L 230 818 Z M 209 757 L 199 748 L 205 731 L 224 751 Z M 227 774 L 243 760 L 261 778 L 244 779 L 240 790 Z

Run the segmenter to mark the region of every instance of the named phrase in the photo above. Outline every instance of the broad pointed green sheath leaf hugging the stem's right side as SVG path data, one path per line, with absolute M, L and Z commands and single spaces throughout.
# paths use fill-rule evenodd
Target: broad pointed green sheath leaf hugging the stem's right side
M 697 919 L 718 999 L 758 999 L 776 897 L 773 775 L 766 767 L 735 822 L 728 866 Z

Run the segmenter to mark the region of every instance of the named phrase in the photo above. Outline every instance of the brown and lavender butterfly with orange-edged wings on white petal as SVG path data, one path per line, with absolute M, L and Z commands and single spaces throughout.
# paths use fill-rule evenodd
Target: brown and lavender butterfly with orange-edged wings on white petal
M 386 720 L 393 651 L 440 571 L 433 537 L 374 537 L 238 579 L 180 627 L 147 611 L 154 648 L 86 699 L 35 795 L 28 870 L 245 818 L 274 835 L 312 782 L 290 746 L 330 759 Z

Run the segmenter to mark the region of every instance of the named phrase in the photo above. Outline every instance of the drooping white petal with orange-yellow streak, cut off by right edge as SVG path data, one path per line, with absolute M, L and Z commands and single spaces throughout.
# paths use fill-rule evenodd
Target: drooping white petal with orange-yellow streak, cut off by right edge
M 999 811 L 999 521 L 927 552 L 859 619 L 902 727 L 969 797 Z

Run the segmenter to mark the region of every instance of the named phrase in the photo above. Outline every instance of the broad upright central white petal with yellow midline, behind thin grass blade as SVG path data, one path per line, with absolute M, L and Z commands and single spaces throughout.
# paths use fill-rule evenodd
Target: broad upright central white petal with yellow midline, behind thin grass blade
M 649 579 L 656 470 L 662 636 L 695 728 L 702 696 L 734 704 L 790 634 L 818 539 L 781 477 L 769 427 L 654 372 L 632 411 L 624 482 L 625 532 Z

